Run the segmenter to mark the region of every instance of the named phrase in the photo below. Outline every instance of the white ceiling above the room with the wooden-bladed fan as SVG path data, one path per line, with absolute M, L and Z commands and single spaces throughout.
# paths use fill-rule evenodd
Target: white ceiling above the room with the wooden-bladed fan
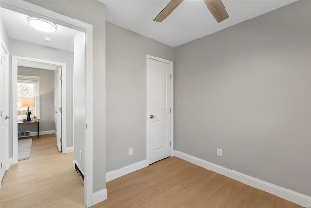
M 163 22 L 153 19 L 170 0 L 99 0 L 106 20 L 176 47 L 297 0 L 222 0 L 229 18 L 217 23 L 203 0 L 184 0 Z

